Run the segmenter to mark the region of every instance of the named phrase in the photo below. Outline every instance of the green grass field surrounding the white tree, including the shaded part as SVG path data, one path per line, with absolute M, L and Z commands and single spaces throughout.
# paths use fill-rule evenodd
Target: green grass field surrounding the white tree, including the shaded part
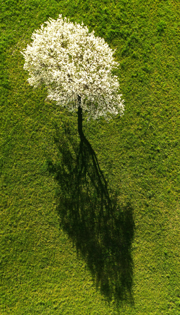
M 1 3 L 0 314 L 180 314 L 179 12 L 175 0 Z M 59 14 L 117 49 L 125 112 L 84 117 L 89 145 L 23 70 L 32 32 Z

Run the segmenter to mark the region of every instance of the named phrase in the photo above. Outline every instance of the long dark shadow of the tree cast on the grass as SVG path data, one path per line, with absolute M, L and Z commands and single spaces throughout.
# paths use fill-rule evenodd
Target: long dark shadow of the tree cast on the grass
M 73 143 L 67 130 L 55 139 L 61 156 L 53 170 L 61 224 L 107 300 L 133 303 L 133 209 L 110 198 L 96 154 L 82 128 L 78 131 L 80 143 Z

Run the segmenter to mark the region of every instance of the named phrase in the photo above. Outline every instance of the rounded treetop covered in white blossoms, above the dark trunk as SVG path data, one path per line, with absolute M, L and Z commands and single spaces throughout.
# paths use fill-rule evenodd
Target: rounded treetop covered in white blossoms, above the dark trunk
M 89 118 L 122 115 L 122 95 L 117 76 L 112 75 L 118 63 L 104 39 L 62 15 L 45 24 L 33 32 L 33 42 L 21 52 L 29 84 L 37 88 L 44 83 L 49 99 L 73 112 L 81 106 Z

